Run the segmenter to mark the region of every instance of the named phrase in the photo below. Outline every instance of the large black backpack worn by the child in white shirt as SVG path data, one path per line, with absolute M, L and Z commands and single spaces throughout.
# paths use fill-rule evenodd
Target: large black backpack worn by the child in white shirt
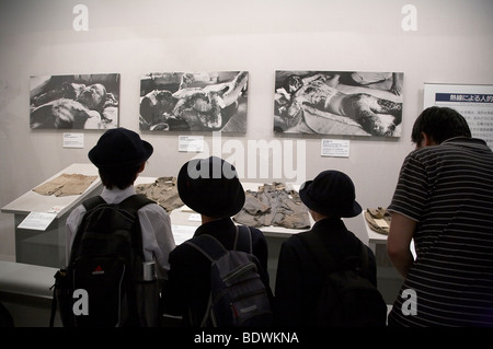
M 64 327 L 158 325 L 158 312 L 152 316 L 142 313 L 144 301 L 159 307 L 159 289 L 154 279 L 144 280 L 137 214 L 152 202 L 144 195 L 133 195 L 119 203 L 106 203 L 101 196 L 82 202 L 87 213 L 73 240 L 70 260 L 55 275 L 50 326 L 57 307 Z M 151 296 L 142 300 L 144 293 Z

